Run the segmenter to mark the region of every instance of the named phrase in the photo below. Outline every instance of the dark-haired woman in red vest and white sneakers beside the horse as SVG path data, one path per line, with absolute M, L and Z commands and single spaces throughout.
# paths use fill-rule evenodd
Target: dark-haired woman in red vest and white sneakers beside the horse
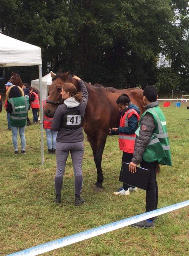
M 121 118 L 118 128 L 111 128 L 110 135 L 119 134 L 119 148 L 123 151 L 122 162 L 130 163 L 134 152 L 135 131 L 140 119 L 140 110 L 133 105 L 129 96 L 121 94 L 117 99 L 117 106 L 121 112 Z M 114 192 L 114 195 L 129 195 L 130 192 L 137 192 L 136 187 L 128 187 L 123 184 L 121 188 Z

